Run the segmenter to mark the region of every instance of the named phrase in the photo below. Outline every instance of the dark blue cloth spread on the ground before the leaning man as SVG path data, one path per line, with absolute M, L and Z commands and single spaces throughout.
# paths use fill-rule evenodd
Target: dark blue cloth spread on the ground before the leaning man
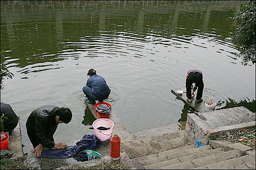
M 69 146 L 65 149 L 42 150 L 39 158 L 70 158 L 79 154 L 79 160 L 85 160 L 87 155 L 86 152 L 83 151 L 99 148 L 100 144 L 101 141 L 95 135 L 84 135 L 76 145 Z

